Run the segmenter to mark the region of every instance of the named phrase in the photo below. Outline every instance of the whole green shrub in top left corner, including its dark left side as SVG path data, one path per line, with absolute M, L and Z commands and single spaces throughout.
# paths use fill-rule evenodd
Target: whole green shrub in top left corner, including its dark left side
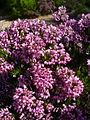
M 28 16 L 37 9 L 37 0 L 1 0 L 0 3 L 11 18 Z

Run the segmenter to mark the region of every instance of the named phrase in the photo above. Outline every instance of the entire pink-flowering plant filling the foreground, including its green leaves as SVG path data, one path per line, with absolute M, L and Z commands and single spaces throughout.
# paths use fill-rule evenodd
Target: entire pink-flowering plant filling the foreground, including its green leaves
M 43 20 L 14 21 L 0 32 L 0 120 L 87 120 L 90 14 L 70 19 L 65 7 Z

